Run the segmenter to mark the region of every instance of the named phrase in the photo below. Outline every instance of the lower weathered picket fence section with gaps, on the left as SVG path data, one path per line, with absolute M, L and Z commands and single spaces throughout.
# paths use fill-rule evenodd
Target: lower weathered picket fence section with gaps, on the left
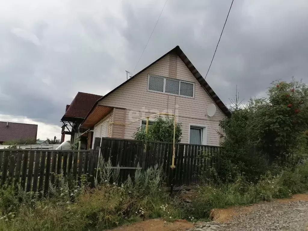
M 26 192 L 48 193 L 57 184 L 57 175 L 71 174 L 79 179 L 86 174 L 94 186 L 98 152 L 93 150 L 0 150 L 0 184 L 19 186 Z M 77 178 L 78 177 L 78 178 Z

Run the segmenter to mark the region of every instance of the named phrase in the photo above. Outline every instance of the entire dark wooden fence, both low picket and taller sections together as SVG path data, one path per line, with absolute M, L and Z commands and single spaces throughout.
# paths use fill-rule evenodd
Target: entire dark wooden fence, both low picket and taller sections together
M 128 175 L 134 177 L 139 168 L 146 170 L 158 164 L 166 176 L 167 186 L 191 186 L 201 183 L 199 175 L 209 175 L 210 168 L 219 168 L 215 156 L 220 147 L 176 144 L 175 169 L 172 164 L 172 143 L 127 140 L 115 138 L 95 139 L 94 150 L 0 150 L 0 185 L 19 186 L 26 192 L 47 195 L 49 184 L 58 185 L 57 175 L 87 180 L 94 187 L 98 156 L 111 160 L 111 168 L 120 168 L 120 181 Z M 139 164 L 139 165 L 138 165 Z

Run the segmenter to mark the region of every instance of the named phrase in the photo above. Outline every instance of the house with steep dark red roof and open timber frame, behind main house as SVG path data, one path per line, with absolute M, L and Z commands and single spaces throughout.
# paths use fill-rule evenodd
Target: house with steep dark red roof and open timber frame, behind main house
M 71 135 L 71 144 L 75 143 L 78 137 L 78 128 L 84 118 L 87 116 L 96 100 L 100 99 L 101 95 L 94 95 L 84 92 L 78 92 L 70 105 L 66 105 L 65 113 L 61 119 L 62 132 L 61 143 L 64 142 L 65 135 Z M 89 149 L 92 142 L 92 133 L 87 132 L 88 129 L 79 129 L 83 147 Z

